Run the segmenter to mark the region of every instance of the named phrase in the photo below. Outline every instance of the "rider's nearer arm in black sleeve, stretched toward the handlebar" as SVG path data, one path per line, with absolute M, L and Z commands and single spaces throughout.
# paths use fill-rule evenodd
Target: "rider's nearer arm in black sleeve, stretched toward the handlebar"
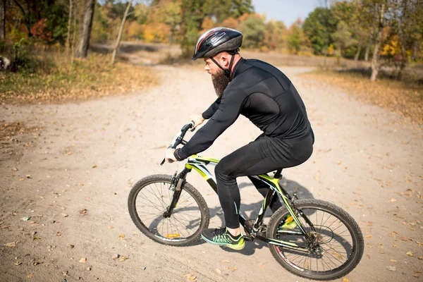
M 236 121 L 240 115 L 244 99 L 243 90 L 231 90 L 223 93 L 219 101 L 219 107 L 212 115 L 212 118 L 192 136 L 184 147 L 176 149 L 176 159 L 178 161 L 186 159 L 192 154 L 197 154 L 210 147 L 214 140 Z

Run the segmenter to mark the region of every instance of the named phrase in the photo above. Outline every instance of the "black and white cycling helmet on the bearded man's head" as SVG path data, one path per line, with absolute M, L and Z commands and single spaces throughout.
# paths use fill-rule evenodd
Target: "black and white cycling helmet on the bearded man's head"
M 228 27 L 214 27 L 204 32 L 195 45 L 192 60 L 211 58 L 221 51 L 238 51 L 243 43 L 243 34 Z

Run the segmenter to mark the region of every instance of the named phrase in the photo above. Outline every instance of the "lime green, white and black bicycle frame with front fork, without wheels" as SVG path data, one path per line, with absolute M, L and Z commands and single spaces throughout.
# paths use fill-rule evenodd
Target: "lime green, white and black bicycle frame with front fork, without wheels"
M 173 209 L 172 207 L 174 207 L 177 204 L 178 198 L 180 196 L 180 190 L 181 190 L 180 187 L 181 185 L 183 185 L 183 181 L 185 181 L 187 174 L 190 171 L 192 171 L 192 168 L 198 173 L 200 173 L 200 175 L 204 178 L 204 180 L 206 180 L 207 183 L 209 183 L 209 185 L 212 187 L 214 192 L 216 192 L 217 194 L 216 178 L 214 177 L 212 173 L 210 173 L 210 171 L 206 167 L 207 165 L 216 166 L 217 164 L 219 164 L 219 159 L 210 159 L 206 157 L 201 157 L 199 155 L 192 155 L 191 157 L 189 157 L 188 162 L 185 164 L 185 168 L 183 169 L 183 171 L 181 171 L 178 175 L 175 174 L 174 176 L 173 186 L 176 187 L 175 194 L 173 195 L 171 205 L 166 214 L 170 216 Z M 252 228 L 249 228 L 248 226 L 246 226 L 245 223 L 247 220 L 243 217 L 242 214 L 240 214 L 240 224 L 245 228 L 245 231 L 247 231 L 248 233 L 248 236 L 245 236 L 245 239 L 252 241 L 254 240 L 254 238 L 257 238 L 269 244 L 279 245 L 283 247 L 291 247 L 291 248 L 295 247 L 295 248 L 308 250 L 307 245 L 297 245 L 295 243 L 290 243 L 283 240 L 266 238 L 265 236 L 259 233 L 262 228 L 264 212 L 266 212 L 266 209 L 267 207 L 269 207 L 269 204 L 271 203 L 271 200 L 273 199 L 273 197 L 275 196 L 277 197 L 277 194 L 278 194 L 278 195 L 281 195 L 283 204 L 286 205 L 286 208 L 288 209 L 289 214 L 293 216 L 295 223 L 297 223 L 298 227 L 300 228 L 300 231 L 278 231 L 278 234 L 303 235 L 305 236 L 305 238 L 308 238 L 307 232 L 304 230 L 304 228 L 302 228 L 300 220 L 298 219 L 293 209 L 290 207 L 290 203 L 293 204 L 292 198 L 290 197 L 290 195 L 288 195 L 288 192 L 286 192 L 286 190 L 284 190 L 278 183 L 279 177 L 272 178 L 268 176 L 267 174 L 260 174 L 258 176 L 252 176 L 252 177 L 257 178 L 261 180 L 262 182 L 266 183 L 266 185 L 269 185 L 270 189 L 266 197 L 264 197 L 262 208 L 260 209 L 259 215 L 255 221 L 254 226 L 252 226 Z M 312 223 L 309 222 L 307 217 L 305 216 L 303 217 L 305 218 L 307 223 L 309 223 L 310 226 L 312 226 Z

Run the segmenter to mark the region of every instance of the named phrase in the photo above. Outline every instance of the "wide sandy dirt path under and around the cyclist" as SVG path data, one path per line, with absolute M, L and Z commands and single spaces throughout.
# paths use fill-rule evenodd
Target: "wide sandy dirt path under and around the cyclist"
M 0 106 L 1 120 L 44 128 L 40 135 L 18 135 L 1 149 L 0 281 L 189 281 L 192 276 L 195 281 L 307 281 L 285 271 L 259 242 L 247 243 L 241 252 L 202 242 L 178 248 L 137 231 L 126 207 L 131 185 L 152 173 L 173 173 L 176 164 L 159 166 L 164 146 L 191 112 L 214 100 L 207 73 L 155 68 L 161 85 L 136 95 Z M 418 258 L 423 246 L 417 243 L 423 243 L 422 128 L 396 125 L 403 117 L 296 76 L 306 68 L 281 69 L 305 100 L 316 135 L 312 158 L 284 171 L 288 189 L 333 202 L 360 222 L 366 247 L 349 281 L 419 281 L 414 275 L 423 271 Z M 257 135 L 259 130 L 240 118 L 203 155 L 221 158 Z M 209 204 L 210 226 L 221 226 L 216 195 L 194 173 L 188 181 Z M 258 212 L 261 196 L 247 179 L 239 183 L 241 209 L 247 215 Z M 114 254 L 129 259 L 114 260 Z

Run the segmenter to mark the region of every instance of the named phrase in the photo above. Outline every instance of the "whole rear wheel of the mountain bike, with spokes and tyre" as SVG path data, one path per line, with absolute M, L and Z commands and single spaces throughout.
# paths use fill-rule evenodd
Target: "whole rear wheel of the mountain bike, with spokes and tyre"
M 284 224 L 290 217 L 286 207 L 271 216 L 268 238 L 307 246 L 307 250 L 269 244 L 275 259 L 293 274 L 316 280 L 336 279 L 352 271 L 364 252 L 363 235 L 353 217 L 321 200 L 298 200 L 295 207 L 307 238 L 289 234 L 300 228 L 294 222 Z

